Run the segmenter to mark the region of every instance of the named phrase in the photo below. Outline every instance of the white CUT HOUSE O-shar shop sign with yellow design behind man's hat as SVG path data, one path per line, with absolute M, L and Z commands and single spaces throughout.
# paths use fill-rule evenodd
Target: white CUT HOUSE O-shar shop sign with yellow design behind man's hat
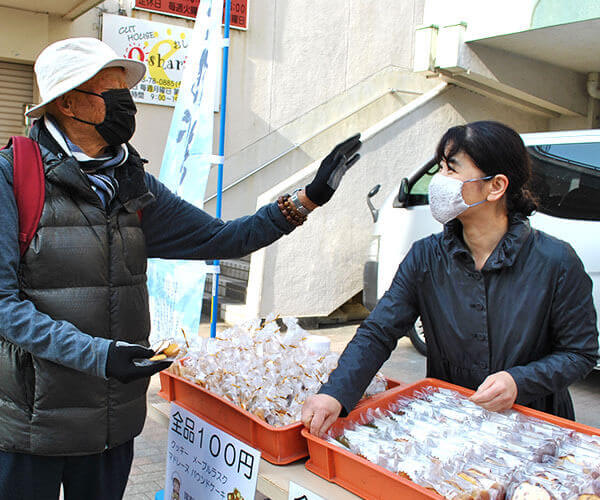
M 136 102 L 174 106 L 192 30 L 181 26 L 104 14 L 102 40 L 115 52 L 146 64 L 146 76 L 131 94 Z

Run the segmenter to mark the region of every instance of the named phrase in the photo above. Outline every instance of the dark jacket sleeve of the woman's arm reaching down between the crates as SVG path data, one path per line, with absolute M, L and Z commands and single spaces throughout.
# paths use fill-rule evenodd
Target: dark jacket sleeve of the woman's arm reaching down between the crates
M 419 255 L 424 248 L 422 243 L 421 240 L 410 249 L 389 290 L 360 325 L 337 368 L 319 390 L 342 404 L 342 416 L 356 406 L 371 379 L 396 348 L 398 339 L 419 316 L 415 285 L 423 270 L 423 266 L 417 265 L 422 257 Z

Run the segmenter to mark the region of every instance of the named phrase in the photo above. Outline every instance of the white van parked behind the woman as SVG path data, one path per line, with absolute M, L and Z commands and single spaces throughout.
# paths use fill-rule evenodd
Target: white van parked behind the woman
M 569 242 L 593 281 L 596 310 L 600 305 L 600 130 L 522 134 L 532 159 L 532 191 L 539 200 L 531 225 Z M 433 149 L 433 146 L 432 146 Z M 398 265 L 416 240 L 439 233 L 442 225 L 429 210 L 428 187 L 438 166 L 427 162 L 402 179 L 379 210 L 367 202 L 375 221 L 364 268 L 363 302 L 375 307 L 390 287 Z M 598 318 L 600 331 L 600 315 Z M 421 354 L 427 346 L 420 321 L 409 332 Z M 600 364 L 597 366 L 600 368 Z

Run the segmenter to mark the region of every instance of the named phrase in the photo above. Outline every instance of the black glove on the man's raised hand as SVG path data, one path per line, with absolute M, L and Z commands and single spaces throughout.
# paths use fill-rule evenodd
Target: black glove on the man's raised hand
M 346 171 L 360 158 L 356 152 L 361 146 L 360 134 L 356 134 L 333 148 L 321 162 L 313 181 L 306 186 L 310 201 L 324 205 L 331 199 Z

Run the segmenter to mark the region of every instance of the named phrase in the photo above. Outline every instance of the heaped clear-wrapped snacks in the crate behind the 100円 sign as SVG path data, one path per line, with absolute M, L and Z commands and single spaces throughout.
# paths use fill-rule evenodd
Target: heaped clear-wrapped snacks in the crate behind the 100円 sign
M 339 355 L 326 337 L 313 336 L 295 318 L 269 316 L 202 338 L 171 368 L 183 376 L 274 426 L 300 420 L 306 398 L 316 394 L 337 366 Z M 377 374 L 365 392 L 385 391 Z

